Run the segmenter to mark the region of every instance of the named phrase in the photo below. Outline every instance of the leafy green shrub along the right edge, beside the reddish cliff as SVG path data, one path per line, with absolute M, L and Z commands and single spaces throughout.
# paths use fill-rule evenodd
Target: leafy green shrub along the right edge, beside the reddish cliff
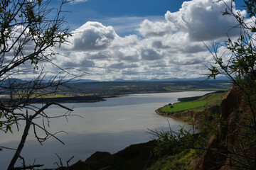
M 249 152 L 256 146 L 256 1 L 248 0 L 245 2 L 247 16 L 242 16 L 240 11 L 235 12 L 233 4 L 228 6 L 223 15 L 229 15 L 236 18 L 238 26 L 234 29 L 240 29 L 240 36 L 237 39 L 228 38 L 225 42 L 225 48 L 228 50 L 230 57 L 224 60 L 224 54 L 218 55 L 218 45 L 215 45 L 215 51 L 212 52 L 215 64 L 209 69 L 208 78 L 223 74 L 233 81 L 234 86 L 238 86 L 242 91 L 249 111 L 243 113 L 242 123 L 237 123 L 236 128 L 231 136 L 238 137 L 240 142 L 235 146 L 228 146 L 230 151 L 230 166 L 242 167 L 244 169 L 256 168 L 256 157 Z M 230 148 L 235 148 L 235 151 Z

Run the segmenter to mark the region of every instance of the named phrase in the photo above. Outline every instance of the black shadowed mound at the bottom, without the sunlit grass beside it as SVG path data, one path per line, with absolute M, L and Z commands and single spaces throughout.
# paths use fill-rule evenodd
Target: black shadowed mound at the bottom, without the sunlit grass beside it
M 70 167 L 60 166 L 58 170 L 146 169 L 158 159 L 158 156 L 154 155 L 154 147 L 156 147 L 156 141 L 153 140 L 131 145 L 116 154 L 95 152 L 85 162 L 79 161 Z

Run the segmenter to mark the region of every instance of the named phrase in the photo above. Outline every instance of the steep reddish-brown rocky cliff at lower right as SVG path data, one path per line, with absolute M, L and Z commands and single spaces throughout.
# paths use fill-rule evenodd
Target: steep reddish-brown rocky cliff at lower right
M 192 169 L 224 170 L 234 165 L 253 164 L 255 159 L 251 158 L 255 157 L 255 147 L 249 146 L 250 135 L 245 126 L 252 115 L 238 87 L 231 88 L 220 104 L 220 118 L 218 131 L 210 137 L 208 147 L 196 159 Z

